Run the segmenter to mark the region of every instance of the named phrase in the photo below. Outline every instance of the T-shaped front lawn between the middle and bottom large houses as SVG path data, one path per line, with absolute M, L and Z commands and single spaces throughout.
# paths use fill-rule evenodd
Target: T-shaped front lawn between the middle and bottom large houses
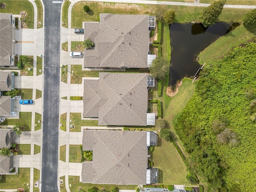
M 70 128 L 70 132 L 80 132 L 81 126 L 98 126 L 98 120 L 81 120 L 81 113 L 70 113 L 70 124 L 75 127 Z

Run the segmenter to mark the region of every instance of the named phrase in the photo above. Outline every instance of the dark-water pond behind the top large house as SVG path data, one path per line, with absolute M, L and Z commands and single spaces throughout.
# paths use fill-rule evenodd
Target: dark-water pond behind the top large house
M 169 85 L 174 86 L 184 77 L 192 78 L 200 64 L 196 61 L 198 54 L 220 36 L 228 32 L 230 25 L 220 22 L 204 28 L 201 24 L 171 24 L 171 65 Z

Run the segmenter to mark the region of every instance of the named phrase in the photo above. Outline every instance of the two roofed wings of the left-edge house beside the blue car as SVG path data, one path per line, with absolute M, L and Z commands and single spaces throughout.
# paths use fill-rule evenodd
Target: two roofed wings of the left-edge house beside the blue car
M 6 118 L 14 113 L 14 98 L 3 96 L 3 91 L 14 89 L 14 73 L 0 71 L 0 116 Z

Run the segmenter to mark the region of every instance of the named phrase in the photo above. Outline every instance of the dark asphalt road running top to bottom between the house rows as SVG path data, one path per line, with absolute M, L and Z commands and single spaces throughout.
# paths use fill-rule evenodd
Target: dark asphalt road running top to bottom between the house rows
M 60 94 L 60 8 L 44 3 L 44 105 L 41 192 L 58 192 L 58 128 Z M 52 66 L 56 65 L 56 66 Z

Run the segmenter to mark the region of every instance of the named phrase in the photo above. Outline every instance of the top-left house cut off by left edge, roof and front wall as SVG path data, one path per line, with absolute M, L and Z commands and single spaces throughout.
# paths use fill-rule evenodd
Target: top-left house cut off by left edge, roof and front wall
M 0 66 L 14 66 L 15 30 L 12 14 L 0 13 Z

